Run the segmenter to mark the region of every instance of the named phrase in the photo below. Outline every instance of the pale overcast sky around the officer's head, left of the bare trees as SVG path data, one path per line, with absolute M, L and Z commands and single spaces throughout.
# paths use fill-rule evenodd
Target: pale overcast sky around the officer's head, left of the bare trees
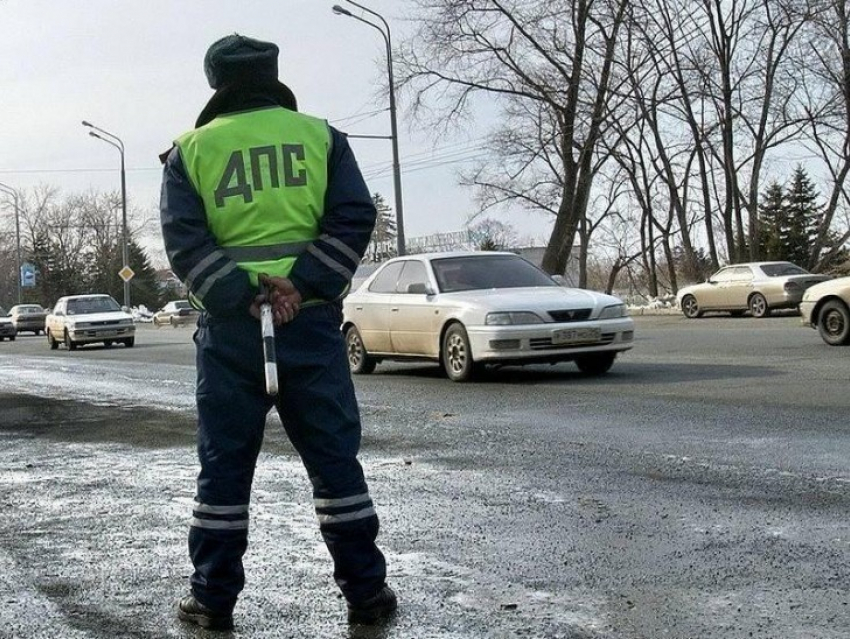
M 203 73 L 209 45 L 238 32 L 277 43 L 280 76 L 302 111 L 349 134 L 387 135 L 386 82 L 377 31 L 331 12 L 344 0 L 0 0 L 0 182 L 65 194 L 119 188 L 118 151 L 91 138 L 88 120 L 122 138 L 130 206 L 156 211 L 157 155 L 193 126 L 212 94 Z M 363 0 L 400 41 L 403 0 Z M 357 9 L 348 5 L 353 12 Z M 359 13 L 359 12 L 358 12 Z M 456 171 L 480 151 L 476 136 L 434 140 L 410 127 L 399 103 L 405 232 L 460 230 L 475 210 Z M 378 111 L 372 117 L 369 114 Z M 388 140 L 353 139 L 370 190 L 392 204 Z M 543 240 L 548 225 L 508 217 L 520 236 Z M 155 241 L 155 240 L 154 240 Z

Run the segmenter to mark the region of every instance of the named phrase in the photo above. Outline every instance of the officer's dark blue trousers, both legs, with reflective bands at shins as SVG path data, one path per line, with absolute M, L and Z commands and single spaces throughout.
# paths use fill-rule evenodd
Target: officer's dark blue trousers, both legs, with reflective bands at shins
M 360 414 L 340 332 L 338 304 L 302 309 L 276 330 L 280 394 L 265 393 L 260 323 L 203 314 L 197 347 L 198 475 L 189 531 L 192 592 L 231 610 L 245 584 L 251 483 L 266 415 L 276 406 L 313 484 L 334 578 L 350 602 L 375 594 L 386 563 L 378 517 L 357 460 Z

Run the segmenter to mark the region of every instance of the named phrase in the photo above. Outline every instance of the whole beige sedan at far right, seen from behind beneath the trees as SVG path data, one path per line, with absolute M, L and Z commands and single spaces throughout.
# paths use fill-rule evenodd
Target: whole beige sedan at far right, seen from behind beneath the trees
M 767 317 L 774 309 L 797 308 L 807 288 L 828 279 L 791 262 L 731 264 L 702 284 L 684 287 L 676 298 L 688 318 L 708 311 Z

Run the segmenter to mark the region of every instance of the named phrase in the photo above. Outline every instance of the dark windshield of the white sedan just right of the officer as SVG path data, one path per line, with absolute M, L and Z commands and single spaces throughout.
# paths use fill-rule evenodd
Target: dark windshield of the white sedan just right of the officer
M 472 255 L 431 261 L 443 293 L 490 288 L 558 286 L 539 268 L 514 255 Z

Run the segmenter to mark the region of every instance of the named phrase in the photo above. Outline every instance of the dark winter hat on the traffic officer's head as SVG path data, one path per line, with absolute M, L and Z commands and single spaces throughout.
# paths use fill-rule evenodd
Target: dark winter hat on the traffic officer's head
M 276 44 L 234 33 L 210 46 L 204 57 L 204 73 L 216 90 L 232 84 L 277 82 L 279 51 Z

